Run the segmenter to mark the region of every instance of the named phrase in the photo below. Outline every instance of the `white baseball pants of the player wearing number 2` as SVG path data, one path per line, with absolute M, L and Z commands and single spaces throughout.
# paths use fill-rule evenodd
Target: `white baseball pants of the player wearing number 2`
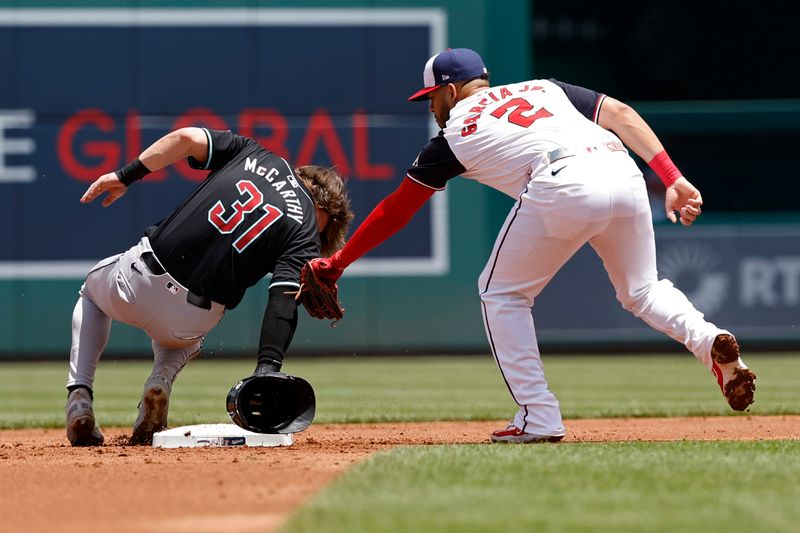
M 531 179 L 511 209 L 479 280 L 489 344 L 520 406 L 514 425 L 526 433 L 565 433 L 544 376 L 531 308 L 587 242 L 603 260 L 623 307 L 684 344 L 709 369 L 711 345 L 724 332 L 672 283 L 658 280 L 650 205 L 633 160 L 624 152 L 600 151 L 555 161 Z

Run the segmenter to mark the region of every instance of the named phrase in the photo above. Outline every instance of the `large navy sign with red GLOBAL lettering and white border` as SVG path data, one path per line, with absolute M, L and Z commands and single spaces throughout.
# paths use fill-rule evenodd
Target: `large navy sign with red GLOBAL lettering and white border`
M 80 278 L 135 242 L 205 173 L 179 162 L 109 209 L 78 199 L 184 126 L 334 166 L 358 224 L 431 135 L 406 98 L 445 26 L 435 9 L 0 10 L 0 278 Z M 436 197 L 352 273 L 447 272 Z

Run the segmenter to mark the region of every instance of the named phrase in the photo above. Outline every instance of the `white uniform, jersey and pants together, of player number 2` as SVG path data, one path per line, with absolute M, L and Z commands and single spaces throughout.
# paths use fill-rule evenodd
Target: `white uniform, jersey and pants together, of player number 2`
M 564 434 L 536 341 L 536 296 L 585 243 L 603 260 L 617 299 L 683 343 L 709 369 L 724 333 L 656 272 L 645 183 L 619 138 L 597 125 L 605 96 L 556 80 L 487 88 L 459 101 L 408 176 L 434 189 L 461 175 L 512 198 L 479 280 L 486 334 L 514 400 L 514 425 Z M 578 303 L 578 302 L 576 302 Z

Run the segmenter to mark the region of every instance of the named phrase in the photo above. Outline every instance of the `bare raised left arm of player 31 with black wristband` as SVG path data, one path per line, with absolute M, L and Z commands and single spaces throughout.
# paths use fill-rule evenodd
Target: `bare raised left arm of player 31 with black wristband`
M 208 139 L 200 128 L 181 128 L 161 137 L 121 169 L 97 178 L 81 196 L 81 203 L 107 193 L 103 207 L 108 207 L 125 194 L 131 183 L 188 156 L 203 163 L 208 158 Z

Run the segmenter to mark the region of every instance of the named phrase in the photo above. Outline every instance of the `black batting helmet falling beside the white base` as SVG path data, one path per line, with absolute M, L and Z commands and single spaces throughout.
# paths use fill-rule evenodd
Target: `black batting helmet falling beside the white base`
M 256 433 L 297 433 L 314 420 L 316 398 L 311 384 L 283 372 L 246 377 L 228 393 L 233 422 Z

